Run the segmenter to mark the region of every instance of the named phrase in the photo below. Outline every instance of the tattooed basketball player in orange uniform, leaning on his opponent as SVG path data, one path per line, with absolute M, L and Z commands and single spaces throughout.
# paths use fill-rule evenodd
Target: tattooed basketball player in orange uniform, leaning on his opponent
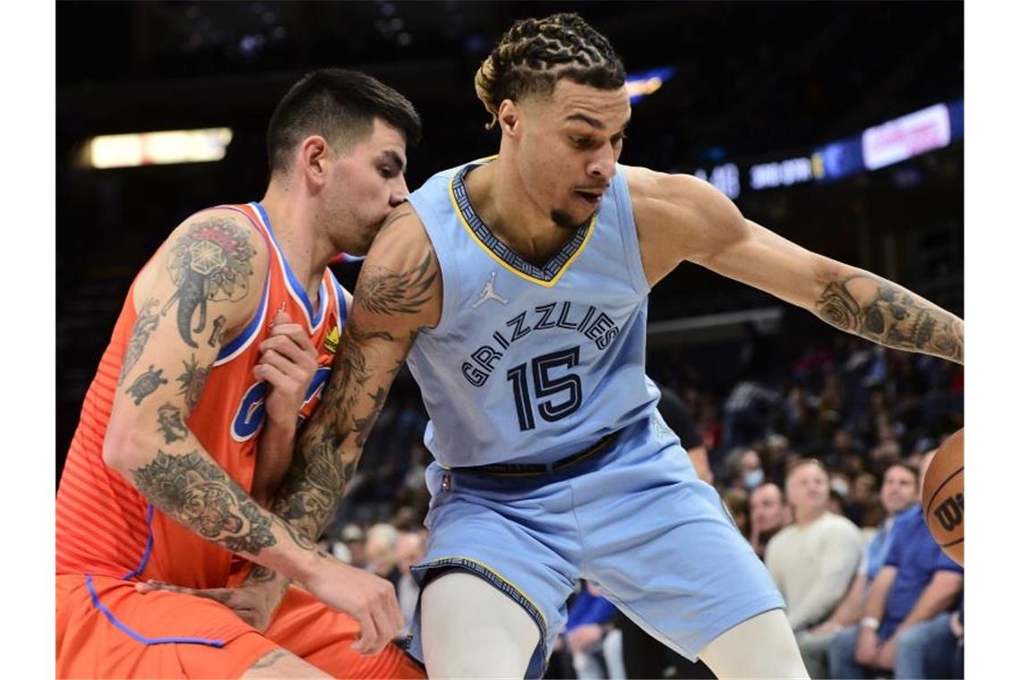
M 262 201 L 192 215 L 135 278 L 57 492 L 58 677 L 422 677 L 393 587 L 317 550 L 354 461 L 290 453 L 344 331 L 327 263 L 404 200 L 420 129 L 374 79 L 309 73 Z

